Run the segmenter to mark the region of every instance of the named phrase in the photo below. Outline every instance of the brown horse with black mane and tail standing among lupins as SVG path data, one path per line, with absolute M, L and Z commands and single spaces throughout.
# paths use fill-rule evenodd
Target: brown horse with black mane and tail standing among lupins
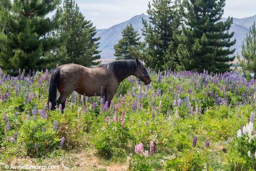
M 131 75 L 145 85 L 151 83 L 145 66 L 138 59 L 118 60 L 92 68 L 77 64 L 61 65 L 51 75 L 48 97 L 52 104 L 51 110 L 56 109 L 57 89 L 60 93 L 57 105 L 61 104 L 62 109 L 65 108 L 68 95 L 73 91 L 86 96 L 100 96 L 104 93 L 110 106 L 119 84 Z

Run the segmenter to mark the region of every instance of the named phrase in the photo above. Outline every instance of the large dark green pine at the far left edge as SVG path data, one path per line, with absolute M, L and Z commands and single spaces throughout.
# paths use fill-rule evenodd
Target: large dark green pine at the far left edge
M 58 10 L 53 19 L 46 17 L 60 4 L 59 0 L 3 0 L 1 1 L 3 30 L 0 36 L 0 67 L 9 74 L 17 70 L 45 69 L 49 59 L 44 53 L 61 45 L 61 36 L 52 33 L 59 27 Z M 4 16 L 5 15 L 5 16 Z M 4 18 L 4 19 L 3 19 Z

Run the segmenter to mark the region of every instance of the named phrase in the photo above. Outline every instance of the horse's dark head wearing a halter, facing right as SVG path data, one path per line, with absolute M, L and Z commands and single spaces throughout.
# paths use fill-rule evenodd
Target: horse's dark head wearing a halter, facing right
M 150 84 L 151 83 L 150 75 L 148 75 L 143 62 L 140 62 L 138 59 L 136 59 L 136 62 L 137 62 L 137 70 L 135 71 L 135 76 L 139 78 L 139 81 L 143 81 L 145 85 Z

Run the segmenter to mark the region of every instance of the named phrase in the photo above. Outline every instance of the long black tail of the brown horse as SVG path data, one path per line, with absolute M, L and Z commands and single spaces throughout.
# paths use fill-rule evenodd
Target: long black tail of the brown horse
M 51 110 L 55 109 L 56 98 L 57 98 L 57 87 L 59 86 L 59 76 L 60 68 L 56 68 L 52 71 L 50 86 L 49 86 L 49 95 L 48 95 L 48 106 L 51 107 Z M 49 103 L 51 102 L 51 106 Z

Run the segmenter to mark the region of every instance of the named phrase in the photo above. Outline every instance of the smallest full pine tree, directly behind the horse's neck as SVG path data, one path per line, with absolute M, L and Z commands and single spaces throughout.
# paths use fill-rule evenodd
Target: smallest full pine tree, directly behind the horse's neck
M 134 59 L 140 57 L 140 37 L 132 25 L 122 30 L 122 39 L 114 45 L 116 59 Z

